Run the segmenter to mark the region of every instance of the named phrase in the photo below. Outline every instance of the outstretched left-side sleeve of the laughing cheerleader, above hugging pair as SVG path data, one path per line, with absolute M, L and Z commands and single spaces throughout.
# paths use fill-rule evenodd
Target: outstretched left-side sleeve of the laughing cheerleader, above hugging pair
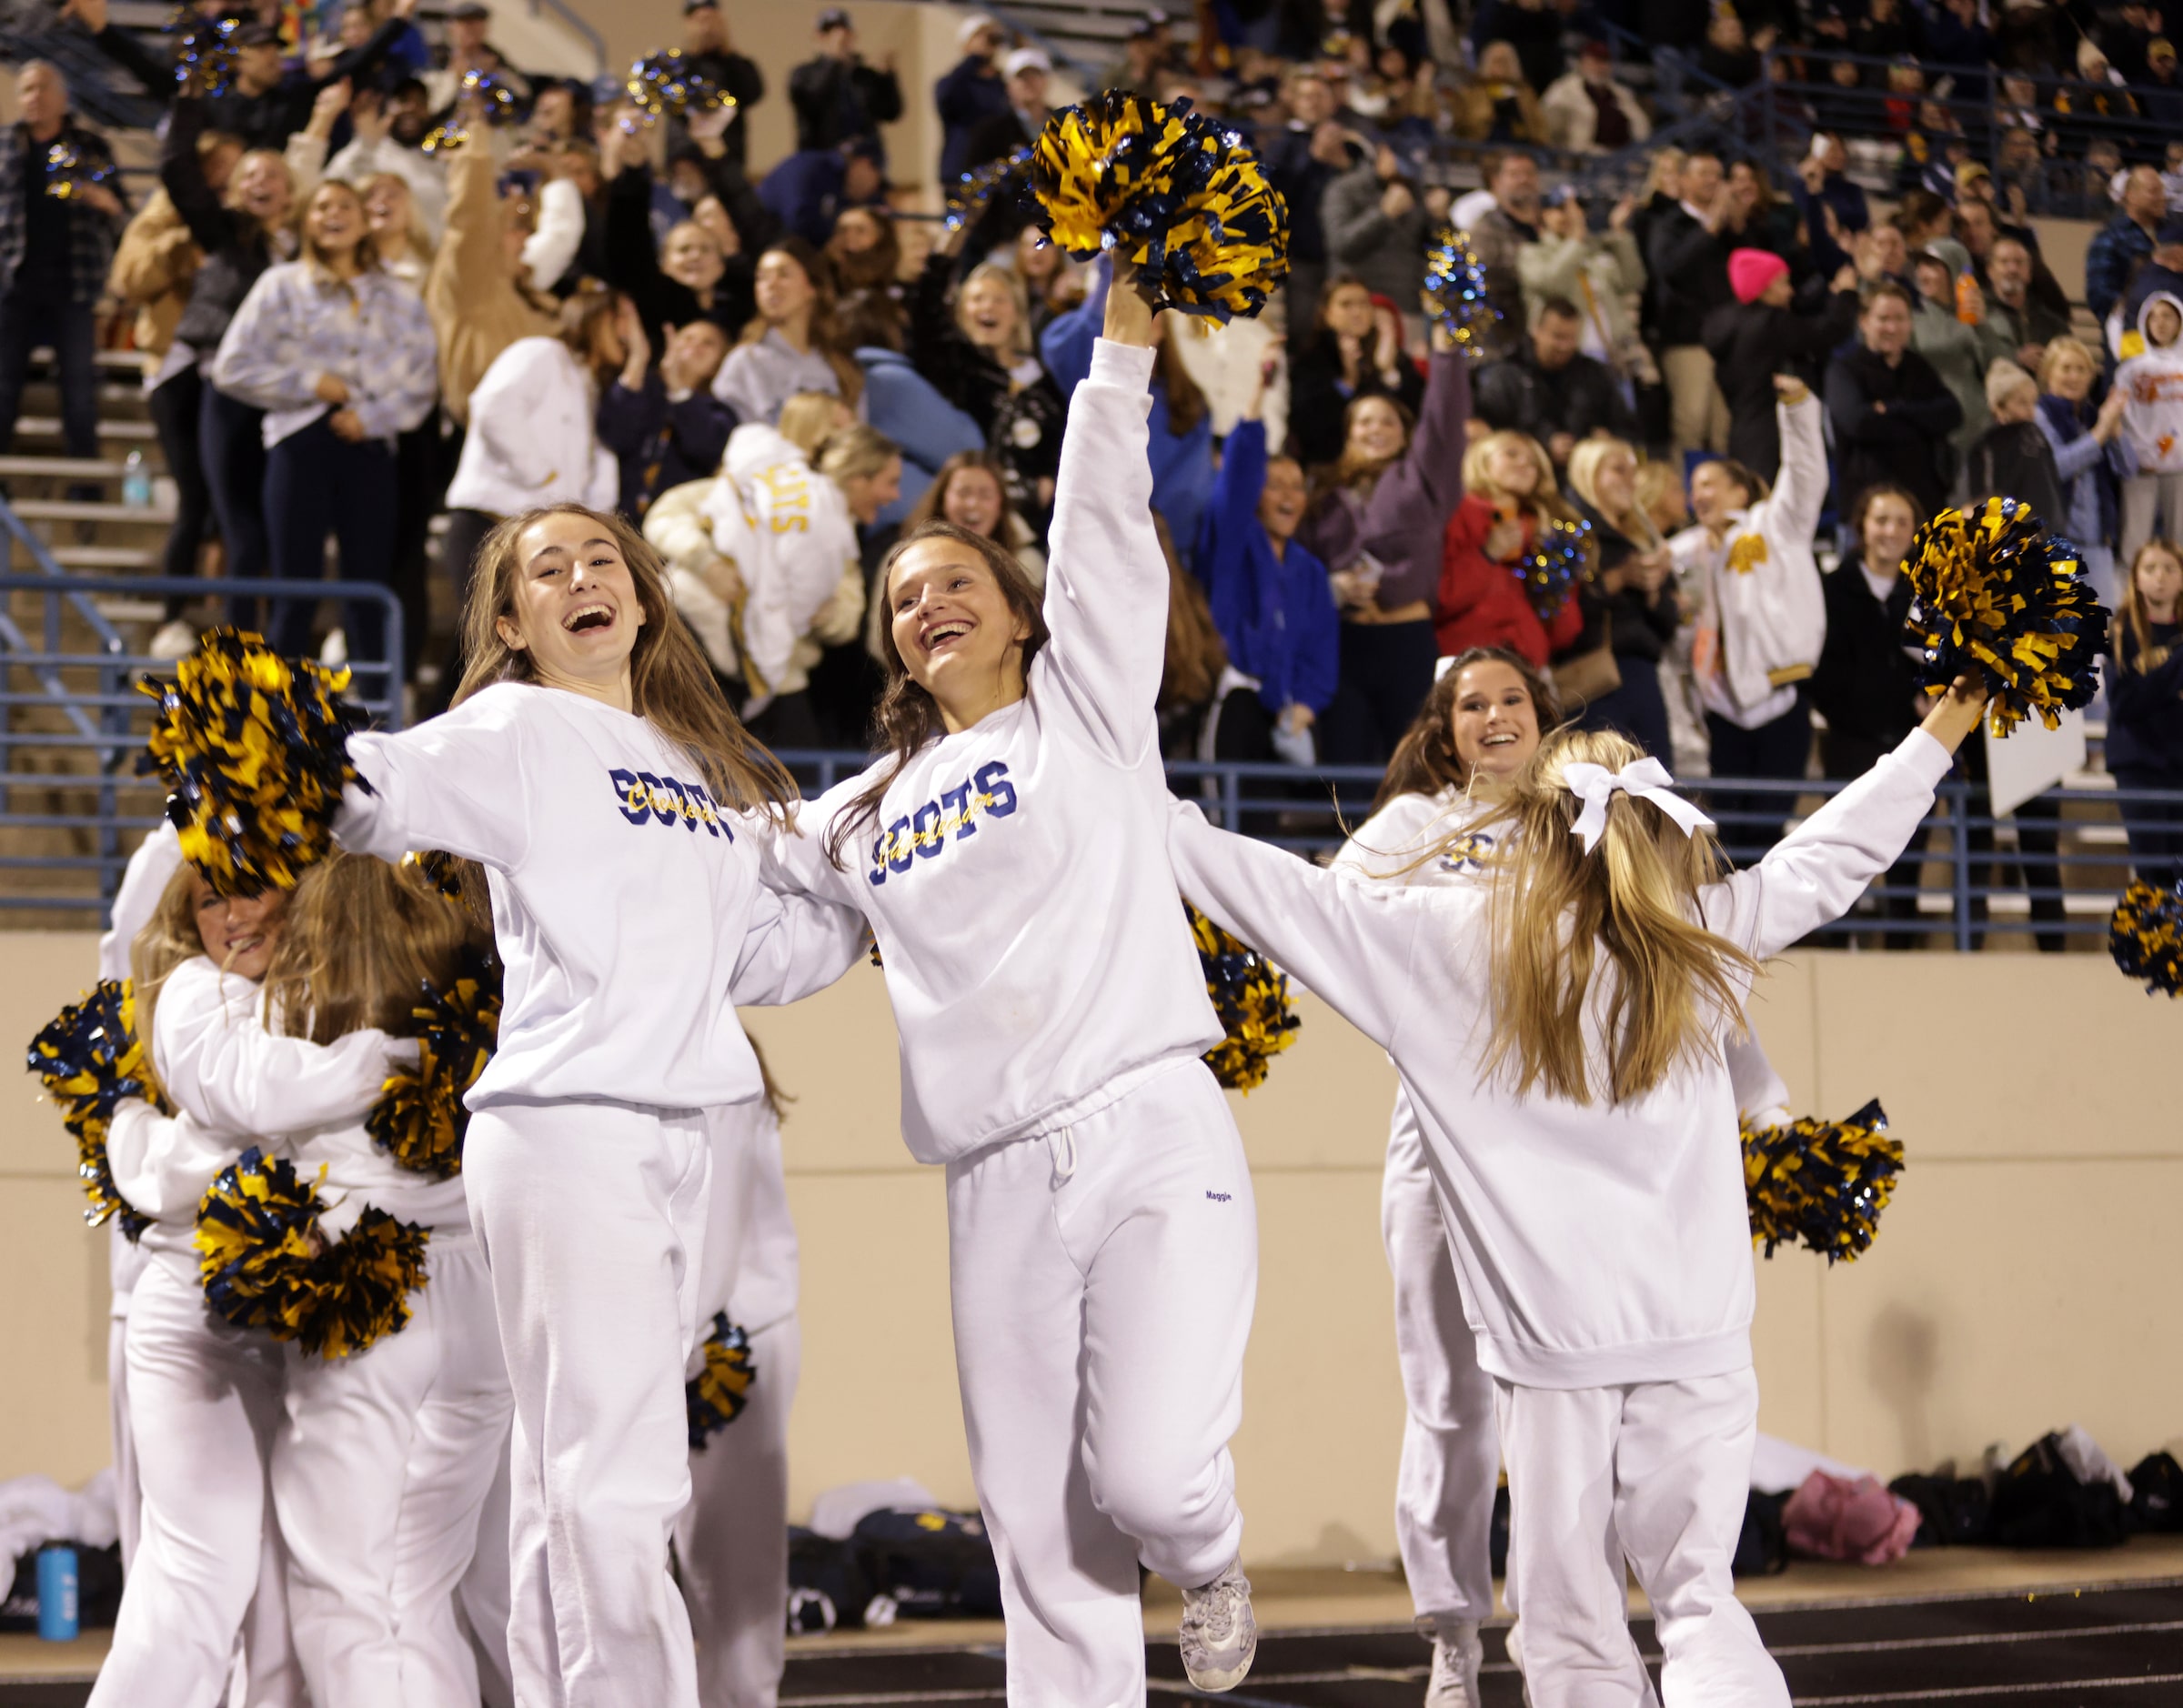
M 389 863 L 413 847 L 441 847 L 515 871 L 530 854 L 526 692 L 487 688 L 415 730 L 349 736 L 349 760 L 371 791 L 343 791 L 334 839 Z

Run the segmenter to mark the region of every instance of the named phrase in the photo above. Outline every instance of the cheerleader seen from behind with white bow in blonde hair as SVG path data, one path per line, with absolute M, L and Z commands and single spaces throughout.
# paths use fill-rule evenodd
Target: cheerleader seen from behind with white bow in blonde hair
M 1539 1708 L 1644 1701 L 1624 1557 L 1670 1708 L 1788 1704 L 1729 1577 L 1757 1380 L 1720 1042 L 1757 965 L 1910 841 L 1980 699 L 1958 684 L 1729 878 L 1666 771 L 1598 732 L 1556 732 L 1502 808 L 1441 839 L 1436 856 L 1476 858 L 1463 837 L 1498 837 L 1478 882 L 1358 882 L 1174 810 L 1185 893 L 1395 1057 L 1493 1378 Z

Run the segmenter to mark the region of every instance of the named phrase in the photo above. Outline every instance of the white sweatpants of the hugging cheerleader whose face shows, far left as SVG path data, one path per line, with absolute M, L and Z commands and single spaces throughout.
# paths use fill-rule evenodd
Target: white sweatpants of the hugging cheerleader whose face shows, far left
M 96 1708 L 212 1708 L 238 1638 L 249 1708 L 303 1701 L 266 1496 L 282 1365 L 275 1341 L 214 1317 L 172 1265 L 138 1278 L 124 1367 L 142 1529 Z

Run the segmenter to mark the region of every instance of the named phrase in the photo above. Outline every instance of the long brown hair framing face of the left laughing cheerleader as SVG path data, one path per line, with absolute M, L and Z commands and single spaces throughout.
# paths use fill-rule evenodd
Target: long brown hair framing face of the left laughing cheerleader
M 454 690 L 454 705 L 491 688 L 496 681 L 535 681 L 528 649 L 509 647 L 498 620 L 515 614 L 515 583 L 522 557 L 515 546 L 533 522 L 548 515 L 587 515 L 605 529 L 629 564 L 637 588 L 644 627 L 629 651 L 629 703 L 640 719 L 666 740 L 681 747 L 712 797 L 729 810 L 784 817 L 797 797 L 795 778 L 760 745 L 720 692 L 705 653 L 675 612 L 668 596 L 659 553 L 646 544 L 620 515 L 594 511 L 589 505 L 546 505 L 511 515 L 478 546 L 469 579 L 469 601 L 463 607 L 463 649 L 469 666 Z

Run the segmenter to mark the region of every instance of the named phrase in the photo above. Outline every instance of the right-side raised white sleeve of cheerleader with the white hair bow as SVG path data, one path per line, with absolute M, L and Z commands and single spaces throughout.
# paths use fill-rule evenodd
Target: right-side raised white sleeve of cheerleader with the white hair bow
M 1805 819 L 1749 871 L 1707 885 L 1707 928 L 1766 961 L 1799 937 L 1840 920 L 1864 887 L 1910 845 L 1949 751 L 1912 730 L 1901 747 Z

